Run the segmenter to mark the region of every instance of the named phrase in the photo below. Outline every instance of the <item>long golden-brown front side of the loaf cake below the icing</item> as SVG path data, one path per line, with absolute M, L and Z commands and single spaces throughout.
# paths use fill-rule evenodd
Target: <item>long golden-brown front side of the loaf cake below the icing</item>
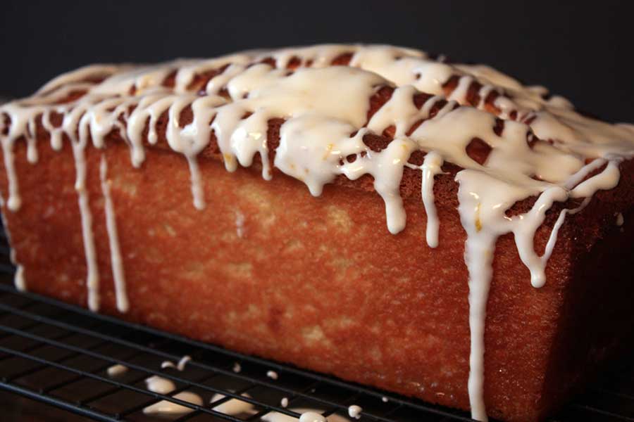
M 73 154 L 68 144 L 59 153 L 47 147 L 40 153 L 46 165 L 32 167 L 26 148 L 16 151 L 29 205 L 19 218 L 5 212 L 13 238 L 21 239 L 13 248 L 30 290 L 85 306 Z M 257 169 L 227 174 L 218 161 L 201 160 L 204 177 L 215 183 L 206 185 L 210 206 L 200 212 L 183 188 L 182 158 L 148 153 L 152 159 L 142 169 L 130 170 L 122 143 L 87 150 L 104 312 L 118 314 L 101 155 L 112 181 L 130 300 L 130 311 L 120 316 L 468 409 L 466 236 L 453 204 L 439 202 L 441 245 L 432 250 L 418 200 L 406 201 L 408 227 L 392 236 L 376 229 L 383 204 L 370 193 L 332 186 L 313 200 L 283 174 L 268 183 Z M 161 177 L 166 172 L 170 181 Z M 6 178 L 0 181 L 6 188 Z M 438 198 L 447 193 L 440 186 Z M 572 226 L 564 225 L 549 283 L 539 290 L 518 282 L 530 274 L 512 238 L 498 242 L 485 338 L 485 399 L 496 417 L 536 420 L 553 405 L 543 390 L 569 286 L 573 239 L 566 227 Z M 537 248 L 548 234 L 547 227 L 540 231 Z M 60 244 L 62 237 L 68 240 Z

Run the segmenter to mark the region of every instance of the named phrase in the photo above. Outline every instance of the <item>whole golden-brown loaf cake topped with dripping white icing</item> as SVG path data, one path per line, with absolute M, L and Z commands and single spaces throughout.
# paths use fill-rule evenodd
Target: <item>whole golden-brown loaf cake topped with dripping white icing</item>
M 18 288 L 478 421 L 545 418 L 631 338 L 634 126 L 492 68 L 92 65 L 0 115 Z

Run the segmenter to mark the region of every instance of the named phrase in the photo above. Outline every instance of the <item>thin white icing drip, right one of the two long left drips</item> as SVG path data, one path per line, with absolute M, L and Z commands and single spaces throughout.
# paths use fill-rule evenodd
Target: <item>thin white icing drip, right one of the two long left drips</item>
M 112 276 L 115 283 L 115 294 L 117 309 L 119 312 L 128 312 L 128 295 L 125 293 L 125 274 L 123 274 L 123 260 L 119 248 L 119 236 L 117 232 L 117 222 L 114 205 L 110 195 L 111 181 L 108 180 L 108 163 L 106 156 L 101 155 L 99 165 L 99 176 L 101 177 L 101 192 L 104 194 L 104 209 L 106 211 L 106 229 L 108 230 L 108 243 L 110 245 L 110 262 L 112 266 Z

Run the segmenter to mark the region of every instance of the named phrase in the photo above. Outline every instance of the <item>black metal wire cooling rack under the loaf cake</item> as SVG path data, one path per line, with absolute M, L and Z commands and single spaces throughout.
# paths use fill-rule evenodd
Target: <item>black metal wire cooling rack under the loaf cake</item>
M 454 409 L 18 293 L 10 283 L 8 246 L 0 236 L 0 273 L 5 281 L 0 283 L 0 389 L 98 421 L 156 421 L 143 410 L 161 400 L 192 409 L 168 417 L 179 422 L 266 421 L 272 412 L 299 418 L 299 409 L 318 409 L 325 416 L 351 420 L 347 415 L 351 404 L 363 408 L 359 421 L 471 421 L 468 414 Z M 161 369 L 162 362 L 177 362 L 186 354 L 192 361 L 182 371 Z M 108 368 L 115 364 L 128 371 L 108 376 Z M 268 371 L 275 371 L 277 379 L 268 377 Z M 634 421 L 632 374 L 616 371 L 554 421 Z M 147 390 L 144 381 L 150 376 L 169 379 L 176 390 L 167 395 Z M 203 404 L 173 397 L 183 391 L 197 393 Z M 280 404 L 284 397 L 287 407 Z M 219 406 L 232 399 L 250 405 L 249 410 L 223 413 Z

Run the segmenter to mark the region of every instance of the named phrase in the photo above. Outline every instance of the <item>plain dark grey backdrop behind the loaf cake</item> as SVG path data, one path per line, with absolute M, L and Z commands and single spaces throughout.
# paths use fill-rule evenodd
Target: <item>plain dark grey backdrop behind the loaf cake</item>
M 586 5 L 587 3 L 587 5 Z M 94 62 L 367 42 L 486 63 L 580 110 L 634 122 L 634 20 L 623 1 L 3 1 L 0 94 Z

